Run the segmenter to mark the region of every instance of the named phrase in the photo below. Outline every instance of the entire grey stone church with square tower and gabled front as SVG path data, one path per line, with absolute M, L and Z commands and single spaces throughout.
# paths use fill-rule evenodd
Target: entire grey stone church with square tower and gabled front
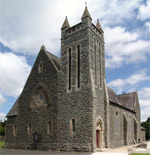
M 7 114 L 7 148 L 87 151 L 140 142 L 137 92 L 117 95 L 105 81 L 105 42 L 87 7 L 61 28 L 61 56 L 41 47 Z

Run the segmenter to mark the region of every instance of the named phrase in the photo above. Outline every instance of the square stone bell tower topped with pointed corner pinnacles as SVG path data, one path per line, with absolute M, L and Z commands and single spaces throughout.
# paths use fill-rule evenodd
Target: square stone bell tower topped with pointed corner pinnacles
M 93 151 L 97 116 L 105 119 L 105 58 L 102 27 L 99 20 L 92 23 L 87 7 L 80 23 L 70 26 L 66 17 L 62 25 L 60 63 L 59 142 L 62 146 L 70 142 L 70 150 Z

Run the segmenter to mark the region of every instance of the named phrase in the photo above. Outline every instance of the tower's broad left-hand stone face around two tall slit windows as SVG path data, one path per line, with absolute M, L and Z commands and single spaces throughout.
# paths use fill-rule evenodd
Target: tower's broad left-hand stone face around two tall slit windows
M 79 29 L 78 29 L 79 27 Z M 59 150 L 92 151 L 92 95 L 89 73 L 89 28 L 79 24 L 62 30 L 61 67 L 59 72 L 58 139 Z M 69 32 L 72 32 L 69 34 Z M 80 88 L 77 88 L 77 45 L 80 44 Z M 71 90 L 68 89 L 68 49 L 72 50 Z M 70 120 L 76 120 L 76 132 L 70 131 Z

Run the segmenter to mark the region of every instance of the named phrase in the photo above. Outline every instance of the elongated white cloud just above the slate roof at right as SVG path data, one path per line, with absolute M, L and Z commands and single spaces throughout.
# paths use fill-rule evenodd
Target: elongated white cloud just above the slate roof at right
M 109 82 L 107 85 L 115 89 L 117 93 L 122 93 L 125 90 L 131 90 L 131 87 L 138 85 L 142 81 L 148 81 L 150 77 L 147 75 L 147 70 L 139 70 L 126 79 L 116 79 Z M 133 90 L 133 89 L 132 89 Z

